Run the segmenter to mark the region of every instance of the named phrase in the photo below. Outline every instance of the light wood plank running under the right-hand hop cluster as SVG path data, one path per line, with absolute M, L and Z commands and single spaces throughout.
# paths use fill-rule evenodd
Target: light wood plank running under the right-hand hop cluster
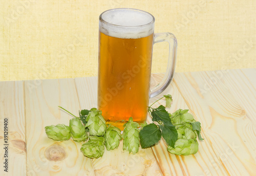
M 176 73 L 174 79 L 177 79 L 177 75 L 179 74 L 180 73 Z M 163 74 L 154 75 L 155 82 L 160 82 L 163 76 Z M 174 81 L 170 83 L 163 93 L 150 99 L 150 103 L 155 102 L 163 95 L 167 94 L 170 94 L 173 97 L 172 106 L 166 109 L 169 113 L 174 113 L 180 108 L 189 109 Z M 164 105 L 165 100 L 160 100 L 159 103 L 154 104 L 154 107 L 157 107 L 160 104 Z M 191 111 L 189 111 L 189 113 L 193 114 Z M 195 117 L 195 114 L 193 115 Z M 150 118 L 147 120 L 148 123 L 152 122 Z M 202 134 L 202 136 L 205 138 L 204 134 Z M 221 165 L 215 167 L 214 164 L 218 162 L 218 159 L 214 150 L 212 150 L 211 143 L 207 139 L 203 142 L 199 141 L 199 151 L 195 155 L 176 156 L 169 153 L 166 148 L 167 145 L 163 139 L 161 139 L 159 144 L 152 147 L 163 175 L 208 175 L 209 173 L 212 175 L 226 175 L 225 169 Z

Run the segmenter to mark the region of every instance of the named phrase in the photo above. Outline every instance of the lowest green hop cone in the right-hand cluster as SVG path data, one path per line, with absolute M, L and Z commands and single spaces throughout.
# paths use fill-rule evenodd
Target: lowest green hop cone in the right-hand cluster
M 175 143 L 175 148 L 168 146 L 168 152 L 175 155 L 191 155 L 198 151 L 197 139 L 178 139 Z

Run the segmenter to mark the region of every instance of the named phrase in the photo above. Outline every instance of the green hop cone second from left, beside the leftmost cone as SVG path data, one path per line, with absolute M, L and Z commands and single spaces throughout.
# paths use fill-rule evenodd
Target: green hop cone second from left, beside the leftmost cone
M 74 141 L 81 142 L 88 138 L 86 128 L 83 126 L 82 122 L 78 117 L 70 119 L 69 127 L 71 131 L 71 137 Z

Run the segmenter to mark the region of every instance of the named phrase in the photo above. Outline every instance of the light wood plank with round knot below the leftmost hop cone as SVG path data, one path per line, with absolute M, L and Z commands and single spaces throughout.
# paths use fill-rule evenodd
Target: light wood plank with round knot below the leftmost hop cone
M 28 175 L 94 175 L 91 159 L 80 152 L 81 143 L 54 141 L 45 133 L 47 125 L 69 125 L 72 116 L 58 105 L 78 114 L 74 80 L 43 80 L 31 90 L 33 83 L 25 81 Z

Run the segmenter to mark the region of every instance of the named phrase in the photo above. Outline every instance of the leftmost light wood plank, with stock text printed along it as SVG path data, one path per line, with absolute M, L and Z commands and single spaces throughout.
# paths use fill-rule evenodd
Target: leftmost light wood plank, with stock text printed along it
M 0 175 L 27 175 L 23 81 L 0 82 Z M 8 119 L 8 172 L 4 171 L 4 119 Z

